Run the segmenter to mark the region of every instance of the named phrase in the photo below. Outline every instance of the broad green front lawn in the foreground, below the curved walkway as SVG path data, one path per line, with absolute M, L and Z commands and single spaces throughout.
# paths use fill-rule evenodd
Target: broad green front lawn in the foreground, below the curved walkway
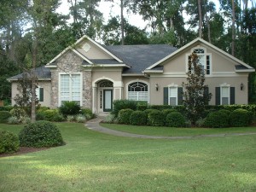
M 154 140 L 57 125 L 65 146 L 0 158 L 0 191 L 256 191 L 255 135 Z

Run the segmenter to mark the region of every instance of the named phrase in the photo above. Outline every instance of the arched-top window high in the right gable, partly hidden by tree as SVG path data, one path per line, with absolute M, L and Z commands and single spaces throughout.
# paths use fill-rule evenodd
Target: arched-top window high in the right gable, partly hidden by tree
M 194 49 L 193 53 L 198 56 L 198 63 L 201 65 L 201 68 L 204 72 L 209 75 L 211 74 L 211 58 L 210 55 L 206 54 L 205 49 Z M 189 55 L 189 62 L 191 62 L 191 57 Z M 189 71 L 191 68 L 189 68 Z

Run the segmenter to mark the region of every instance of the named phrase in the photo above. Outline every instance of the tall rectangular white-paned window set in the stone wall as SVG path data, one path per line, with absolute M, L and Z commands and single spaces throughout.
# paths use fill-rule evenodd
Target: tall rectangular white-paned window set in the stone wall
M 81 75 L 60 74 L 60 104 L 71 101 L 81 105 Z

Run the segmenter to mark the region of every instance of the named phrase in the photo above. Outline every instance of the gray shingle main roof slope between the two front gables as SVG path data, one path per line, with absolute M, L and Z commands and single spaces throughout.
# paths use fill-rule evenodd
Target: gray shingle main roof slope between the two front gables
M 125 64 L 131 66 L 123 73 L 142 73 L 147 67 L 172 54 L 177 48 L 167 44 L 104 46 Z

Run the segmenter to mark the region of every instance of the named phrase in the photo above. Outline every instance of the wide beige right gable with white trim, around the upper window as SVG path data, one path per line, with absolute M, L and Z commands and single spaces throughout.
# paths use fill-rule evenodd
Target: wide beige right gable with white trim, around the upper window
M 188 55 L 193 52 L 195 48 L 203 48 L 206 50 L 207 55 L 210 55 L 212 62 L 212 72 L 254 72 L 254 68 L 248 66 L 243 61 L 238 60 L 236 57 L 218 49 L 216 46 L 207 43 L 207 41 L 196 38 L 189 44 L 184 45 L 182 48 L 177 49 L 171 55 L 167 55 L 154 65 L 148 67 L 144 72 L 150 73 L 154 71 L 155 67 L 164 66 L 164 71 L 169 72 L 186 72 L 186 64 L 188 63 Z M 170 66 L 172 65 L 172 66 Z

